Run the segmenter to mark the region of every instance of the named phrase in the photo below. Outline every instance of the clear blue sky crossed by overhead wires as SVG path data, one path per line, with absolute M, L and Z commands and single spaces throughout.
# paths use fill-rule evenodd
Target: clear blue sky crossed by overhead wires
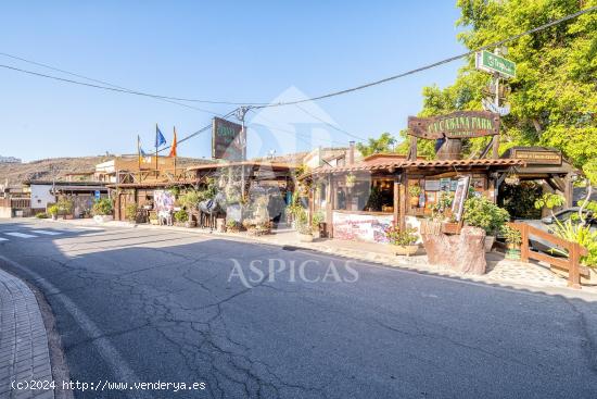
M 269 102 L 318 96 L 462 52 L 453 1 L 28 1 L 0 5 L 0 52 L 153 93 Z M 0 64 L 62 77 L 0 55 Z M 460 62 L 307 112 L 249 114 L 249 155 L 396 134 L 421 108 L 423 86 L 448 85 Z M 71 86 L 0 68 L 0 154 L 30 161 L 145 150 L 155 123 L 168 141 L 213 115 L 149 98 Z M 192 104 L 217 113 L 233 107 Z M 313 117 L 316 116 L 316 119 Z M 294 133 L 294 135 L 293 135 Z M 296 137 L 298 136 L 298 138 Z M 211 134 L 179 147 L 211 155 Z

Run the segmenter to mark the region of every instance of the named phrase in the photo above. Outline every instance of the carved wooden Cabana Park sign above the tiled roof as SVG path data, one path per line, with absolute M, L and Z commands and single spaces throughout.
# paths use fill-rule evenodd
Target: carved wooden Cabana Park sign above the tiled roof
M 471 138 L 499 134 L 499 115 L 486 111 L 457 111 L 433 117 L 408 116 L 408 134 L 419 138 Z

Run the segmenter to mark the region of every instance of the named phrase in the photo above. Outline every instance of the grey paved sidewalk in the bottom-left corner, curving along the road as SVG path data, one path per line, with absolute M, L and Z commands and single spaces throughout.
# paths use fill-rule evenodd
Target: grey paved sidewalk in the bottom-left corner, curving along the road
M 25 384 L 39 382 L 29 389 Z M 0 270 L 0 398 L 53 399 L 48 336 L 34 292 Z M 21 383 L 22 389 L 15 389 Z

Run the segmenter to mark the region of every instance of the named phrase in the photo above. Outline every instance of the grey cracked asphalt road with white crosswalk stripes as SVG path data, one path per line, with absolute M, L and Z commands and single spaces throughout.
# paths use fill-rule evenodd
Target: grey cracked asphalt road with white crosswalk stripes
M 0 223 L 0 267 L 45 294 L 73 381 L 205 383 L 77 398 L 597 397 L 588 299 L 213 236 L 30 223 Z

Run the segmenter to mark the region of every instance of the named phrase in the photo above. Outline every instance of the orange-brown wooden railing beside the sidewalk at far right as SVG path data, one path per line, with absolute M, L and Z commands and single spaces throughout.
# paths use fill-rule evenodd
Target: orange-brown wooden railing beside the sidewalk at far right
M 508 223 L 510 227 L 518 229 L 522 236 L 520 247 L 520 259 L 522 262 L 529 262 L 529 259 L 534 259 L 541 262 L 548 263 L 559 269 L 568 271 L 568 285 L 573 288 L 581 288 L 581 275 L 588 277 L 589 271 L 586 266 L 581 265 L 581 257 L 588 254 L 585 247 L 577 242 L 568 241 L 557 237 L 550 233 L 533 227 L 526 223 Z M 531 250 L 529 246 L 529 237 L 542 238 L 554 247 L 559 247 L 568 252 L 568 258 L 551 257 L 544 252 Z

